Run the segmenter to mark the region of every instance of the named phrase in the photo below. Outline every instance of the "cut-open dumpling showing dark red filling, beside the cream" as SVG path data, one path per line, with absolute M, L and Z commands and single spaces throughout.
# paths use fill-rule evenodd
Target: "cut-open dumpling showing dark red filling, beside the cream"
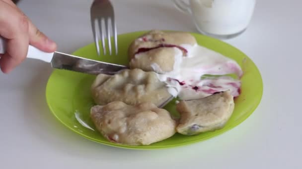
M 156 73 L 173 71 L 196 43 L 189 33 L 150 31 L 130 44 L 130 68 Z

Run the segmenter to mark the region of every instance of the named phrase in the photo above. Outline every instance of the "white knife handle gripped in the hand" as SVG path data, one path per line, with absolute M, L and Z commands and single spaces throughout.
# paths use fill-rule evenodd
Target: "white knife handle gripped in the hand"
M 0 37 L 0 54 L 4 54 L 5 51 L 6 51 L 6 40 Z M 39 59 L 39 60 L 43 60 L 44 62 L 50 63 L 53 58 L 53 55 L 54 55 L 53 52 L 51 53 L 44 52 L 32 45 L 29 45 L 26 57 L 32 59 Z

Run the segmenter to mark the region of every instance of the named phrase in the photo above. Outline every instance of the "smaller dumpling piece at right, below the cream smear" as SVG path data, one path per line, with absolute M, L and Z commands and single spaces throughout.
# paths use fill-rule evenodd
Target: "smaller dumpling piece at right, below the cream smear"
M 227 90 L 202 99 L 180 101 L 176 108 L 181 116 L 177 132 L 194 135 L 223 128 L 234 110 L 234 101 Z

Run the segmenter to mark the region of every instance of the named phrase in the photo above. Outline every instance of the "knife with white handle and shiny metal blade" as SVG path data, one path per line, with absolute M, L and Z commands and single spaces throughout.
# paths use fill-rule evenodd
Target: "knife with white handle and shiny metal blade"
M 5 49 L 6 40 L 0 37 L 0 54 L 4 54 Z M 100 73 L 114 75 L 123 69 L 128 69 L 127 66 L 86 59 L 57 51 L 47 53 L 32 45 L 29 45 L 26 57 L 51 63 L 51 67 L 56 69 L 64 69 L 93 75 Z

